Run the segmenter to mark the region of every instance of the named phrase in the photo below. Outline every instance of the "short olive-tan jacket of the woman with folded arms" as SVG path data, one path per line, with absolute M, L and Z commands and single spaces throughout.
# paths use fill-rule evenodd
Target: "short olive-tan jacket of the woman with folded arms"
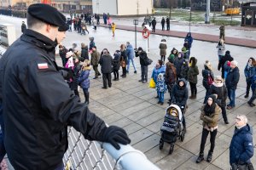
M 204 109 L 207 104 L 203 105 L 201 107 L 201 116 L 200 119 L 203 121 L 202 126 L 205 127 L 217 127 L 218 125 L 218 115 L 221 111 L 220 107 L 218 105 L 215 105 L 214 113 L 212 113 L 210 116 L 207 116 Z

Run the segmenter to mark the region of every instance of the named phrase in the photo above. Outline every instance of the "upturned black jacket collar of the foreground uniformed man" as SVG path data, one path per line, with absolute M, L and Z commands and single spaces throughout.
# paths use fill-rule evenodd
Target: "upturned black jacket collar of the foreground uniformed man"
M 52 52 L 55 50 L 55 42 L 37 31 L 26 29 L 20 39 L 35 44 L 38 46 L 38 48 L 44 48 L 47 52 Z

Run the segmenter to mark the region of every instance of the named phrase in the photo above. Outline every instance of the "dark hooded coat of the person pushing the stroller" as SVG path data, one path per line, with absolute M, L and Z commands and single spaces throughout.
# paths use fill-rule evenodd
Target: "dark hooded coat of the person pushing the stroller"
M 181 81 L 184 82 L 183 87 L 179 86 L 179 82 Z M 177 81 L 177 84 L 175 84 L 174 87 L 172 88 L 172 103 L 179 106 L 185 106 L 187 105 L 188 95 L 189 90 L 187 88 L 187 81 L 181 78 Z

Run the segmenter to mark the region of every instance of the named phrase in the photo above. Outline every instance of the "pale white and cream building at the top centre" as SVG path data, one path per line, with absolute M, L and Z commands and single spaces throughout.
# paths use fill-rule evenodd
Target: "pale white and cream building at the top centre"
M 95 14 L 110 14 L 118 16 L 152 14 L 152 0 L 92 0 L 92 10 Z

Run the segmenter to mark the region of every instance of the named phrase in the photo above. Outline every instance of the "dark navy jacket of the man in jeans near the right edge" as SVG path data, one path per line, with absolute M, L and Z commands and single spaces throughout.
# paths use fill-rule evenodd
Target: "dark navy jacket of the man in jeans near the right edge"
M 229 89 L 235 90 L 237 88 L 237 83 L 239 82 L 240 73 L 239 69 L 236 66 L 234 69 L 230 69 L 230 71 L 227 74 L 225 83 L 226 87 Z

